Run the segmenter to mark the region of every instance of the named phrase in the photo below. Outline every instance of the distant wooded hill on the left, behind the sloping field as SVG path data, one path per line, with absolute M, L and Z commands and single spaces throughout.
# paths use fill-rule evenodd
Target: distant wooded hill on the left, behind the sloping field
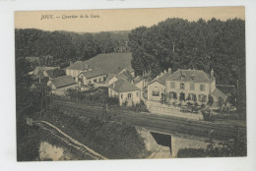
M 96 54 L 127 52 L 129 31 L 77 33 L 15 29 L 16 58 L 51 55 L 64 61 L 87 60 Z

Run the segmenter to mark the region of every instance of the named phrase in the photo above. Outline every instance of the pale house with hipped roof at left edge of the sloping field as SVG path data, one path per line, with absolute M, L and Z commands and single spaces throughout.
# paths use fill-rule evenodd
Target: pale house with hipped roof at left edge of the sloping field
M 92 71 L 92 68 L 89 68 L 86 61 L 77 61 L 75 63 L 70 64 L 68 68 L 66 68 L 66 75 L 71 76 L 78 83 L 78 76 L 81 72 Z

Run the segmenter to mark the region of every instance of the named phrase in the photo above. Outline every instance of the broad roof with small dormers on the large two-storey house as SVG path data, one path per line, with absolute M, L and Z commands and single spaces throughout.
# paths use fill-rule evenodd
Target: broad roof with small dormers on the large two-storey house
M 183 78 L 181 76 L 184 76 Z M 195 83 L 212 83 L 214 79 L 202 70 L 183 70 L 178 69 L 172 75 L 166 78 L 167 81 L 195 82 Z

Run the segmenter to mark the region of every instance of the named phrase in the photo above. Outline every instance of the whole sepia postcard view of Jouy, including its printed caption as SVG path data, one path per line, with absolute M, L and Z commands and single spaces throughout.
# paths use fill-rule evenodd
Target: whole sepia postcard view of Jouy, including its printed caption
M 15 11 L 14 27 L 18 162 L 247 156 L 244 6 Z

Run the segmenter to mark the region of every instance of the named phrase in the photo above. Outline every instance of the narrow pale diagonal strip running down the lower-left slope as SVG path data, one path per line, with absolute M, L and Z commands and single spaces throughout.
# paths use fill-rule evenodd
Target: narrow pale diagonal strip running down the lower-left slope
M 92 159 L 96 159 L 96 160 L 107 159 L 106 157 L 100 155 L 95 150 L 91 149 L 85 144 L 74 140 L 70 136 L 63 133 L 60 129 L 58 129 L 57 127 L 55 127 L 54 125 L 46 121 L 33 121 L 33 124 L 40 127 L 42 130 L 50 132 L 54 137 L 60 139 L 60 141 L 65 142 L 66 144 L 77 148 L 79 151 L 90 156 Z

